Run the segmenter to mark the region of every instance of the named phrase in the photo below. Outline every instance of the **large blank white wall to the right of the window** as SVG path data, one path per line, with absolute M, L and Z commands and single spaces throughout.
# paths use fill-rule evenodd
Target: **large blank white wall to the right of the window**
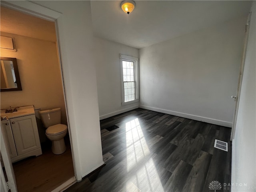
M 246 18 L 140 49 L 142 108 L 231 126 Z

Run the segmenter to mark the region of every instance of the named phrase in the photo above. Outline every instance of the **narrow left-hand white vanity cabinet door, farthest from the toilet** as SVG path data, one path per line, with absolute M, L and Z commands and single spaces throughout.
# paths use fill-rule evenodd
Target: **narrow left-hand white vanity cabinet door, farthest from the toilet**
M 1 129 L 4 138 L 6 138 L 6 150 L 10 153 L 10 158 L 17 156 L 17 151 L 15 147 L 15 142 L 12 134 L 12 127 L 10 121 L 3 120 L 1 121 Z

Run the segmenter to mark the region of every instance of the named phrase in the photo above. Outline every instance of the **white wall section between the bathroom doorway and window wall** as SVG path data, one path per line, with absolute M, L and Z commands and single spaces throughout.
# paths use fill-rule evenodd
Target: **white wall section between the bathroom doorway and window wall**
M 77 179 L 103 164 L 90 1 L 33 1 L 57 19 Z

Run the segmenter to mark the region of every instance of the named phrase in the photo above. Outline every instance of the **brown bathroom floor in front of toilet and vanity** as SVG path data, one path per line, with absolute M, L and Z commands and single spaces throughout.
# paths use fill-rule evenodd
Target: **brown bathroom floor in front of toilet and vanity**
M 42 148 L 42 155 L 13 164 L 18 192 L 51 192 L 74 177 L 69 140 L 65 143 L 67 150 L 63 154 L 53 154 L 50 143 Z

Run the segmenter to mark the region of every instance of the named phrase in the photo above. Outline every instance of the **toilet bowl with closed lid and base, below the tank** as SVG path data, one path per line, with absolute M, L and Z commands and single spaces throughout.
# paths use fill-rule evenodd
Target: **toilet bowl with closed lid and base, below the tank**
M 66 151 L 64 136 L 67 134 L 68 128 L 66 125 L 57 124 L 46 129 L 46 137 L 52 141 L 52 152 L 54 154 L 62 154 Z

